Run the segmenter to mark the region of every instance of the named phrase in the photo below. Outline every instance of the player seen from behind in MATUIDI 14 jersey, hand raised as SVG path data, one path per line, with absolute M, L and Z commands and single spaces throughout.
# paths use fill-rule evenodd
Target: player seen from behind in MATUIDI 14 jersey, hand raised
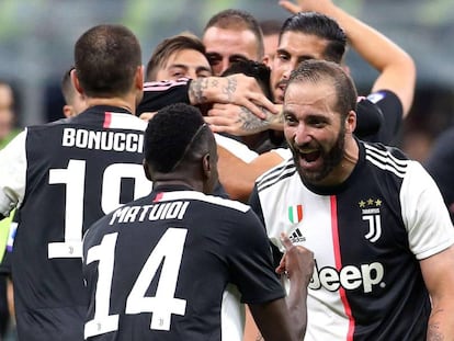
M 280 272 L 294 287 L 286 302 L 258 217 L 207 195 L 217 182 L 217 151 L 200 111 L 183 103 L 159 111 L 144 155 L 152 193 L 103 217 L 83 239 L 86 340 L 236 340 L 222 337 L 228 284 L 266 340 L 303 338 L 313 255 L 284 240 Z

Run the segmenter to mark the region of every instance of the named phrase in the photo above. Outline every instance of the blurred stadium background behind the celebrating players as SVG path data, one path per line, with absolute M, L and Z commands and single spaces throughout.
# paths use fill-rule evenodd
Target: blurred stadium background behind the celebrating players
M 454 5 L 451 0 L 342 0 L 348 12 L 402 46 L 418 67 L 417 93 L 400 143 L 423 158 L 431 140 L 454 123 Z M 189 30 L 200 35 L 208 18 L 227 8 L 258 20 L 284 20 L 277 0 L 0 0 L 0 78 L 13 84 L 19 125 L 61 117 L 59 82 L 72 64 L 72 46 L 99 23 L 130 27 L 144 64 L 162 38 Z M 348 64 L 366 92 L 376 76 L 354 53 Z M 411 150 L 416 148 L 417 150 Z M 425 148 L 425 149 L 424 149 Z M 425 150 L 425 151 L 424 151 Z

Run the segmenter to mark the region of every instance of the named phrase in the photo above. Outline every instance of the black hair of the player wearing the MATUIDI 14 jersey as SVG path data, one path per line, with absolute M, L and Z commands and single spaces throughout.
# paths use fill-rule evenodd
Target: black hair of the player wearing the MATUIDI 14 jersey
M 145 132 L 145 161 L 152 171 L 169 173 L 190 160 L 194 150 L 205 145 L 207 149 L 209 134 L 198 109 L 184 103 L 164 106 L 149 121 Z

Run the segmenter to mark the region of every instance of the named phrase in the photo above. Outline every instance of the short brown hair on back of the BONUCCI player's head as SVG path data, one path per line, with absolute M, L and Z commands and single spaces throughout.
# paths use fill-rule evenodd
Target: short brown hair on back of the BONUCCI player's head
M 76 43 L 76 72 L 88 96 L 107 98 L 127 93 L 139 66 L 140 44 L 134 33 L 123 25 L 94 26 Z

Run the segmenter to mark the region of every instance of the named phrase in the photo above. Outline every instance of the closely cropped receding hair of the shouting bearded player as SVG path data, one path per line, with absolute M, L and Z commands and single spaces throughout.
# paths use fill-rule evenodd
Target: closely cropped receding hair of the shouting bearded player
M 305 60 L 292 71 L 287 89 L 292 83 L 311 82 L 319 83 L 329 81 L 336 89 L 334 110 L 345 118 L 350 111 L 356 111 L 357 92 L 351 77 L 342 67 L 333 61 L 328 60 Z

